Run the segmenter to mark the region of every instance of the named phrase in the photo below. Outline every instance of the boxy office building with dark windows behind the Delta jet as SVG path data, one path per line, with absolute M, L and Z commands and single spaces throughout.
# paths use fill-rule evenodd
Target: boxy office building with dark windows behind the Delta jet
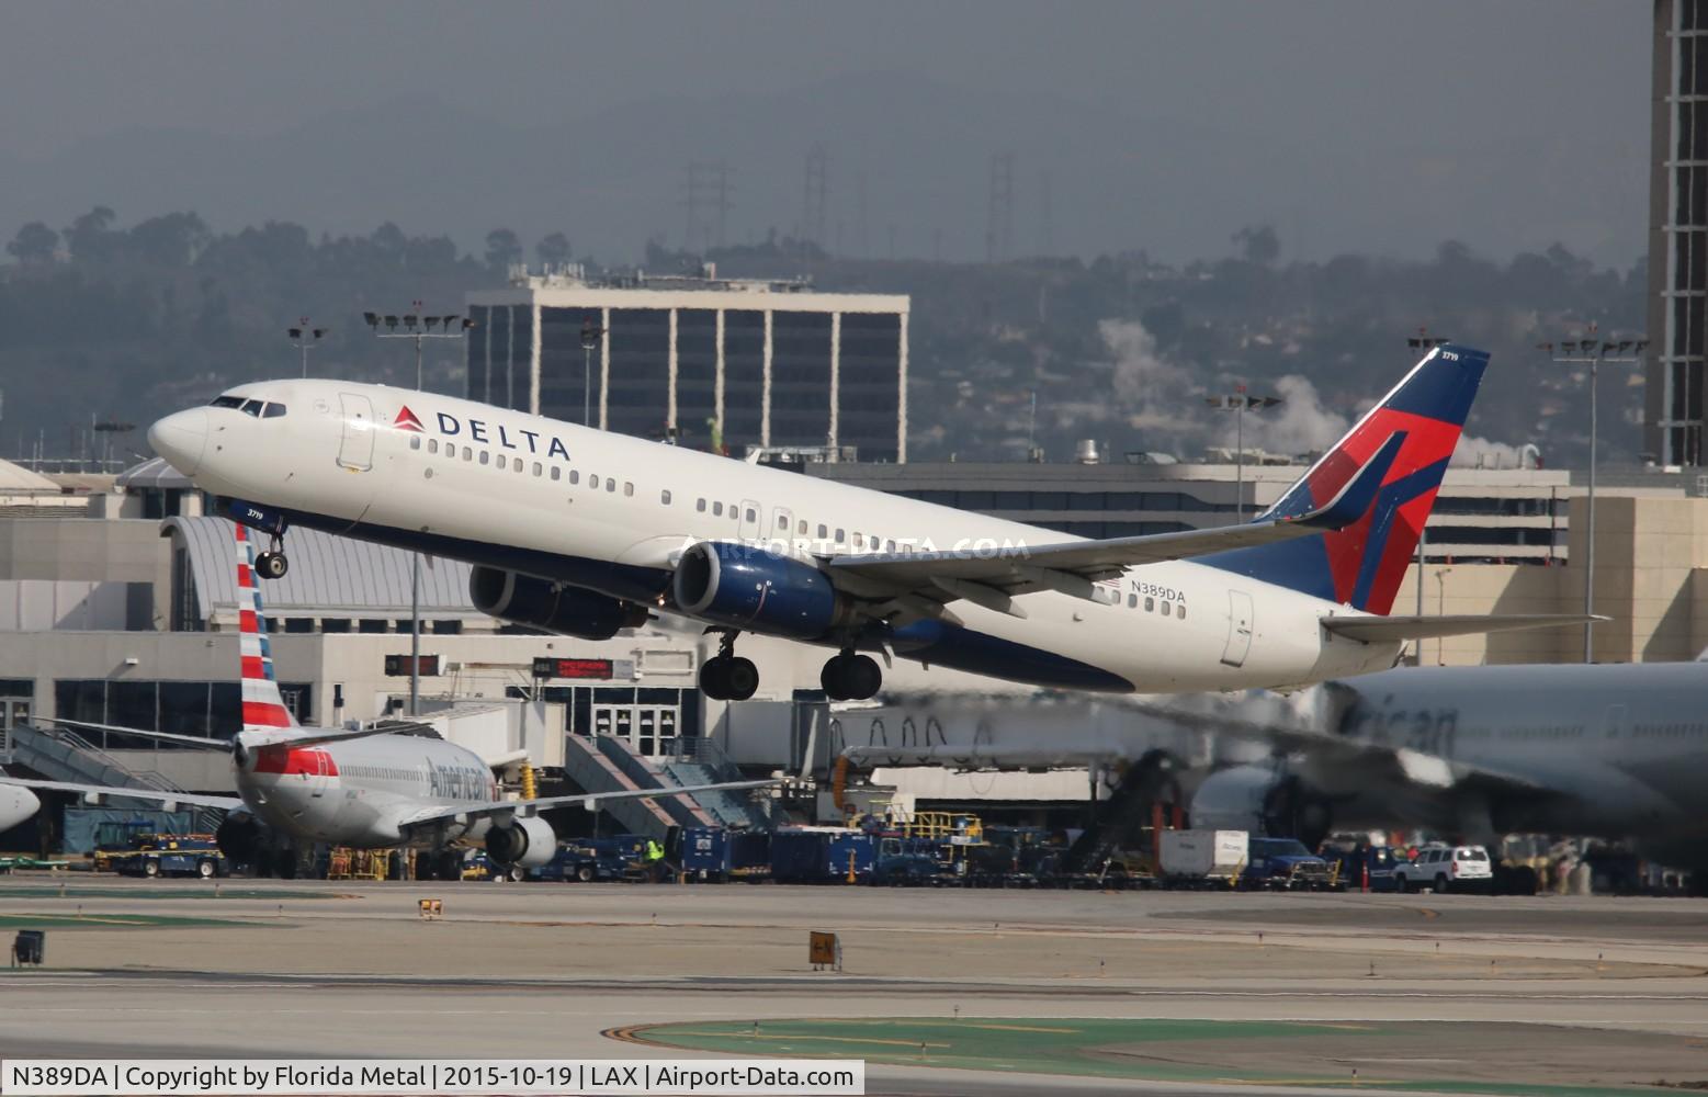
M 470 400 L 697 449 L 716 424 L 736 455 L 907 460 L 907 296 L 569 268 L 518 272 L 468 314 Z

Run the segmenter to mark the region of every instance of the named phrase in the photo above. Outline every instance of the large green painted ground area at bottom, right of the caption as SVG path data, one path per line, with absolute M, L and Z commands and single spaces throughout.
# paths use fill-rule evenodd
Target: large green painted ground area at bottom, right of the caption
M 1226 1082 L 1255 1085 L 1315 1085 L 1361 1090 L 1430 1090 L 1494 1094 L 1498 1097 L 1633 1097 L 1650 1087 L 1532 1085 L 1399 1076 L 1397 1070 L 1366 1070 L 1354 1083 L 1348 1073 L 1274 1071 L 1247 1066 L 1170 1063 L 1148 1058 L 1146 1044 L 1190 1041 L 1242 1042 L 1252 1061 L 1264 1059 L 1271 1041 L 1284 1049 L 1300 1037 L 1358 1041 L 1370 1035 L 1421 1034 L 1419 1025 L 1303 1024 L 1264 1020 L 1126 1020 L 1105 1017 L 938 1017 L 822 1018 L 755 1022 L 678 1022 L 634 1030 L 640 1041 L 690 1051 L 721 1051 L 748 1058 L 791 1054 L 866 1059 L 897 1066 L 1027 1071 L 1131 1078 L 1149 1082 Z

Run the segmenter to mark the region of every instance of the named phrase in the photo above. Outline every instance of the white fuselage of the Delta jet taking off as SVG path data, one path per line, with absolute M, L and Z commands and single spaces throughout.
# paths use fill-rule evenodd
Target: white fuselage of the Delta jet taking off
M 697 540 L 770 543 L 803 560 L 1079 540 L 430 393 L 270 381 L 231 395 L 285 414 L 193 408 L 150 432 L 205 490 L 299 525 L 666 610 L 670 572 Z M 400 427 L 400 417 L 420 429 Z M 955 642 L 897 642 L 895 653 L 1038 685 L 1138 692 L 1300 685 L 1382 670 L 1399 653 L 1319 624 L 1354 610 L 1187 560 L 1127 569 L 1112 601 L 1038 590 L 1016 603 L 1023 619 L 955 601 L 965 625 Z

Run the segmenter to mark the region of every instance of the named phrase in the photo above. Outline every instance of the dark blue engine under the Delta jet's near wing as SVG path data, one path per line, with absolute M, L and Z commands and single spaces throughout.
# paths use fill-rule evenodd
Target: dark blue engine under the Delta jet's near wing
M 820 569 L 734 542 L 690 545 L 671 590 L 690 617 L 791 639 L 818 639 L 847 615 L 847 600 Z

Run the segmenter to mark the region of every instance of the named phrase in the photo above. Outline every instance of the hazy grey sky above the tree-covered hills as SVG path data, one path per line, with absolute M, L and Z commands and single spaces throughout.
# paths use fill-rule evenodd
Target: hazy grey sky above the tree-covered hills
M 1650 5 L 1631 0 L 155 0 L 0 17 L 0 236 L 106 195 L 126 222 L 395 215 L 466 246 L 511 224 L 634 255 L 637 232 L 685 232 L 690 159 L 731 162 L 733 239 L 789 231 L 820 140 L 832 217 L 871 253 L 890 232 L 900 251 L 982 251 L 1004 145 L 1016 251 L 1044 244 L 1045 174 L 1061 251 L 1223 255 L 1255 220 L 1295 255 L 1457 236 L 1623 265 L 1645 244 Z

